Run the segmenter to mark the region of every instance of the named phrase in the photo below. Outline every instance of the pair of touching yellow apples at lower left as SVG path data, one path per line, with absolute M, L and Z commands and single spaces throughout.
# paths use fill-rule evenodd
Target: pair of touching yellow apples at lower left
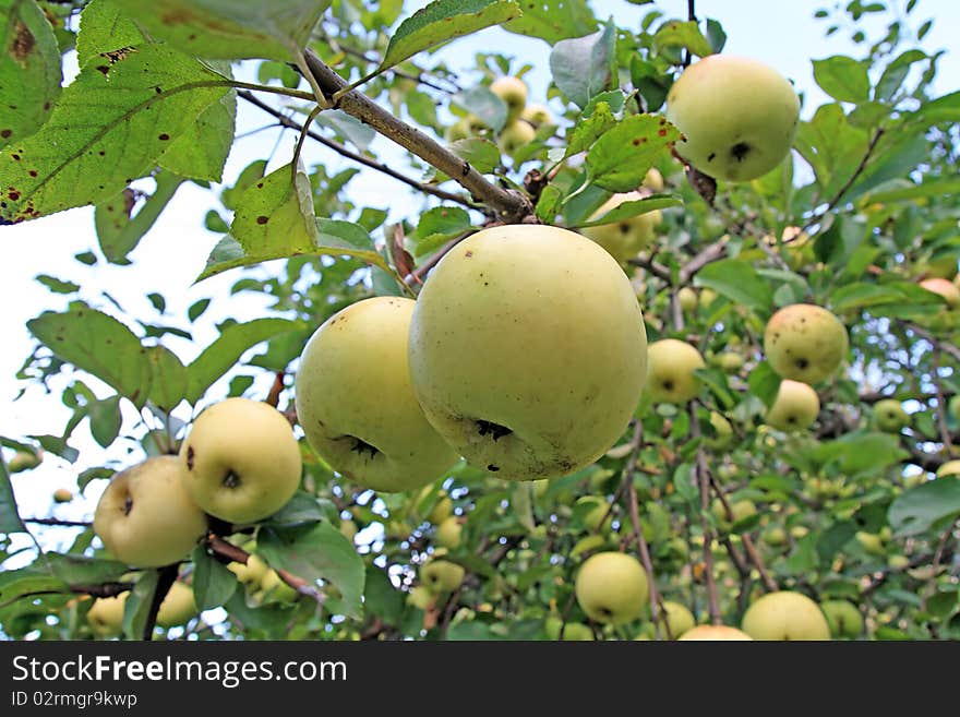
M 189 555 L 211 516 L 250 525 L 276 513 L 301 470 L 300 446 L 280 411 L 227 398 L 196 417 L 179 455 L 118 473 L 97 503 L 94 531 L 128 565 L 169 565 Z

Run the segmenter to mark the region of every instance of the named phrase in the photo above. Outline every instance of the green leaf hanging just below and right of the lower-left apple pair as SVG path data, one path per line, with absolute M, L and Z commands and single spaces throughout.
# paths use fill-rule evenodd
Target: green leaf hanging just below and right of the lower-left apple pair
M 367 571 L 353 543 L 328 523 L 309 529 L 262 528 L 256 549 L 272 567 L 283 567 L 313 583 L 328 581 L 340 593 L 339 607 L 349 617 L 360 616 Z

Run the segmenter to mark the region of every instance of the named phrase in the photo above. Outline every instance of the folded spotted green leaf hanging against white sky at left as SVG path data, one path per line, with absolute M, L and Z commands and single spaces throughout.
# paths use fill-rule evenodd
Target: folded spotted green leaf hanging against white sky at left
M 118 195 L 97 204 L 94 210 L 94 226 L 100 250 L 110 263 L 130 263 L 127 254 L 136 249 L 184 181 L 182 177 L 168 171 L 158 171 L 154 179 L 156 189 L 135 215 L 131 215 L 135 201 L 131 189 L 122 190 Z

